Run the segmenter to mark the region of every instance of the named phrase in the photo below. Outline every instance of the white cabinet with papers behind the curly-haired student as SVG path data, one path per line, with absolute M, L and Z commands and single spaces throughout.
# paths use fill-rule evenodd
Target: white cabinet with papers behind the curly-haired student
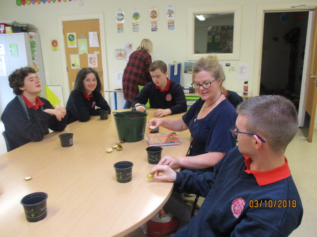
M 43 90 L 41 96 L 46 98 L 40 34 L 0 34 L 0 116 L 5 106 L 15 97 L 8 76 L 17 68 L 25 66 L 36 70 Z

